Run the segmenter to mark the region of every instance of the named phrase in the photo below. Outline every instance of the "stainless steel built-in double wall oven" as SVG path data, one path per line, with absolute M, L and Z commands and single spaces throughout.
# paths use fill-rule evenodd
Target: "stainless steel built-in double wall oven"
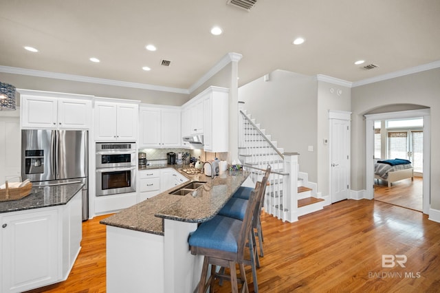
M 136 191 L 135 142 L 96 143 L 96 196 Z

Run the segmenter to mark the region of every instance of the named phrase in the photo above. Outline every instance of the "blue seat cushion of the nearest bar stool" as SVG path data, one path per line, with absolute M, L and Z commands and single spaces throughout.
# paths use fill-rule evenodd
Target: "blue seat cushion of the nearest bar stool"
M 237 252 L 241 224 L 238 219 L 216 215 L 195 230 L 188 243 L 190 246 Z

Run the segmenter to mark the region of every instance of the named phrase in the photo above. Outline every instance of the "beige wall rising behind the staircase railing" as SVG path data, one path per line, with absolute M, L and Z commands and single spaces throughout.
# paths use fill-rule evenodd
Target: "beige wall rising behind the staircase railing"
M 269 80 L 258 78 L 239 88 L 243 109 L 261 124 L 278 147 L 285 152 L 300 153 L 300 171 L 309 173 L 309 180 L 317 182 L 317 80 L 284 70 L 269 74 Z

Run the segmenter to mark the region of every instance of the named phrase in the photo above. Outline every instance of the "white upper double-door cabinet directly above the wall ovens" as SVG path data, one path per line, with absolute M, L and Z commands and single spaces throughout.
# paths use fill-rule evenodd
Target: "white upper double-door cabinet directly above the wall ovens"
M 135 141 L 137 139 L 137 103 L 95 102 L 95 140 Z

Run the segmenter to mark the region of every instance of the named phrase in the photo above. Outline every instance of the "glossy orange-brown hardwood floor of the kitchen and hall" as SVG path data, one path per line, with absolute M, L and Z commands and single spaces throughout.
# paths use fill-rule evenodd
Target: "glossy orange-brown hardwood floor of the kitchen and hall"
M 105 227 L 99 220 L 83 224 L 83 250 L 69 279 L 33 292 L 105 292 Z M 440 290 L 440 224 L 415 210 L 345 200 L 295 223 L 265 214 L 261 220 L 260 292 Z M 406 268 L 382 268 L 383 254 L 406 255 Z M 253 292 L 250 268 L 247 277 Z M 216 283 L 214 292 L 230 292 L 229 283 Z

